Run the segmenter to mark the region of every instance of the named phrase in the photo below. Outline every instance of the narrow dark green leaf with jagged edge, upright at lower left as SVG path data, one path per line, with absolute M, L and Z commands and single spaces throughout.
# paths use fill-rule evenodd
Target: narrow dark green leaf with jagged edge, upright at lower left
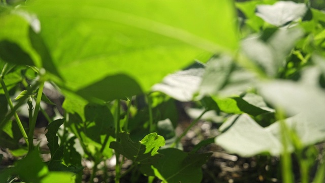
M 47 133 L 45 134 L 48 144 L 47 146 L 50 149 L 51 158 L 54 160 L 54 157 L 57 157 L 55 160 L 60 160 L 63 158 L 63 149 L 59 150 L 58 136 L 56 136 L 57 131 L 60 126 L 64 123 L 66 119 L 56 119 L 47 126 Z

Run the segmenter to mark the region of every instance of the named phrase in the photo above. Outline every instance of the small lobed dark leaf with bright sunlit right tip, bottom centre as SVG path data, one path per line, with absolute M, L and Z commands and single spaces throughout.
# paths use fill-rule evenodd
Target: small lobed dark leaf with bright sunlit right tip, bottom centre
M 162 155 L 157 153 L 157 150 L 165 145 L 163 136 L 151 133 L 142 140 L 133 142 L 129 138 L 129 133 L 121 132 L 118 135 L 120 136 L 120 142 L 111 142 L 110 148 L 127 159 L 137 163 L 151 164 L 161 158 Z

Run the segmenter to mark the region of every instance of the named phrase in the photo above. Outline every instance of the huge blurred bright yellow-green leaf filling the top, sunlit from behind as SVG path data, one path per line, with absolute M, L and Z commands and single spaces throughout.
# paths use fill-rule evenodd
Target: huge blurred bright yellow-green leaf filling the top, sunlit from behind
M 202 52 L 237 48 L 232 1 L 52 0 L 28 9 L 40 18 L 41 36 L 73 90 L 121 73 L 148 90 Z

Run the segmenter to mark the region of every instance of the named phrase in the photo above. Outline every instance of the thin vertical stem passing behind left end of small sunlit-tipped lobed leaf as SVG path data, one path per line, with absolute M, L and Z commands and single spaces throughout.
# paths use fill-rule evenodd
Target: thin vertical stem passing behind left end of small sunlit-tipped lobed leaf
M 121 101 L 119 99 L 116 100 L 116 113 L 115 113 L 115 127 L 116 127 L 116 141 L 119 142 L 119 133 L 121 132 L 120 128 L 120 108 L 121 108 Z M 115 165 L 115 182 L 120 182 L 121 176 L 121 164 L 119 161 L 120 154 L 115 151 L 116 156 L 116 165 Z

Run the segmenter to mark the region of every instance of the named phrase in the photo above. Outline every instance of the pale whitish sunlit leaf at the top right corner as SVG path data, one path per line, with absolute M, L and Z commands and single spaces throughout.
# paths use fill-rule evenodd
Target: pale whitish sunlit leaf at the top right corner
M 274 5 L 258 5 L 256 15 L 272 25 L 282 26 L 303 18 L 307 10 L 307 6 L 303 3 L 279 1 Z

